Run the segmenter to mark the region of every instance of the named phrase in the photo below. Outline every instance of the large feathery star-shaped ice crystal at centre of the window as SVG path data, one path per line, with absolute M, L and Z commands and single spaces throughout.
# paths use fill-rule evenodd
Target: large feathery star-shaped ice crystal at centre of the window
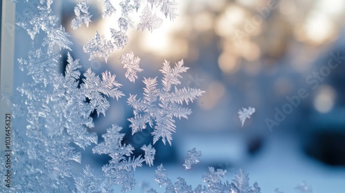
M 160 70 L 163 73 L 162 89 L 157 88 L 157 77 L 144 78 L 144 98 L 137 99 L 137 94 L 130 94 L 128 104 L 134 109 L 135 115 L 128 119 L 132 134 L 146 129 L 148 124 L 154 129 L 151 133 L 153 143 L 161 138 L 164 144 L 168 141 L 171 145 L 172 132 L 176 130 L 174 118 L 187 119 L 192 113 L 189 108 L 184 108 L 183 103 L 188 105 L 204 92 L 196 88 L 177 88 L 176 85 L 181 84 L 181 73 L 186 70 L 188 68 L 184 66 L 183 60 L 175 63 L 174 68 L 170 68 L 170 63 L 164 61 Z

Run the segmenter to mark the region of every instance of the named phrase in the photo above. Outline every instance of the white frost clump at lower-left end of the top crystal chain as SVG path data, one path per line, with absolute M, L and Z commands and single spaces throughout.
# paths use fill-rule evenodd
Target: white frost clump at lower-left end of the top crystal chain
M 103 57 L 106 61 L 110 55 L 110 52 L 114 50 L 114 45 L 111 41 L 106 40 L 104 35 L 100 35 L 96 32 L 95 36 L 91 37 L 88 42 L 83 46 L 84 52 L 90 54 L 89 60 L 96 57 Z

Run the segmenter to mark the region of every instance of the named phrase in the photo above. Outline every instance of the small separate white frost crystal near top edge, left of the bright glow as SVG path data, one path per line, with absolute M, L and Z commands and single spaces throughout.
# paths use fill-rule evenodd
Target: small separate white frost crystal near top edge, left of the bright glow
M 83 23 L 85 23 L 86 27 L 88 27 L 88 23 L 91 22 L 92 15 L 90 15 L 90 13 L 88 12 L 86 0 L 81 3 L 77 3 L 77 6 L 75 6 L 75 16 L 76 18 L 73 19 L 72 23 L 70 24 L 73 30 L 77 30 L 78 28 L 83 26 Z

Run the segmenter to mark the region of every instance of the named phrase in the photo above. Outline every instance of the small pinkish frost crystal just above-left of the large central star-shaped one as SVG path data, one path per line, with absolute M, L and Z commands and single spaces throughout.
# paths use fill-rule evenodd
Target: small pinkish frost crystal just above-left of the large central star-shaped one
M 135 57 L 133 52 L 124 53 L 122 54 L 120 61 L 124 65 L 124 68 L 127 69 L 125 74 L 126 78 L 134 83 L 135 79 L 138 78 L 137 72 L 143 71 L 141 68 L 139 68 L 139 57 Z

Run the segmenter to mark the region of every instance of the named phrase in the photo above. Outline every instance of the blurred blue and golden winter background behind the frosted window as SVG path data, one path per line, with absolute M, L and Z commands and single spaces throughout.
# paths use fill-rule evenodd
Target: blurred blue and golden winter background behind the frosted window
M 128 45 L 115 50 L 108 63 L 89 61 L 83 44 L 96 30 L 109 38 L 117 20 L 102 19 L 102 2 L 88 1 L 92 23 L 72 30 L 77 2 L 55 1 L 54 6 L 72 34 L 72 57 L 80 59 L 84 71 L 110 70 L 126 96 L 140 95 L 144 77 L 161 78 L 164 59 L 184 59 L 190 69 L 181 85 L 206 91 L 189 105 L 188 120 L 177 120 L 172 145 L 154 145 L 154 167 L 137 170 L 137 190 L 157 187 L 154 170 L 163 163 L 172 181 L 184 177 L 193 189 L 213 166 L 228 170 L 229 179 L 244 169 L 262 192 L 294 192 L 303 181 L 315 192 L 345 192 L 345 1 L 179 1 L 175 21 L 167 19 L 152 33 L 130 30 Z M 17 7 L 19 14 L 23 9 Z M 20 28 L 16 36 L 17 45 L 28 39 Z M 17 49 L 17 57 L 27 54 L 26 48 Z M 130 50 L 144 69 L 135 84 L 125 78 L 119 61 Z M 116 123 L 126 132 L 124 143 L 143 153 L 141 146 L 152 143 L 150 129 L 132 136 L 126 97 L 110 103 L 106 116 L 94 116 L 99 139 Z M 256 112 L 242 127 L 237 112 L 248 106 Z M 202 152 L 200 163 L 184 171 L 193 148 Z M 91 148 L 83 156 L 83 165 L 95 167 L 109 159 L 93 155 Z

